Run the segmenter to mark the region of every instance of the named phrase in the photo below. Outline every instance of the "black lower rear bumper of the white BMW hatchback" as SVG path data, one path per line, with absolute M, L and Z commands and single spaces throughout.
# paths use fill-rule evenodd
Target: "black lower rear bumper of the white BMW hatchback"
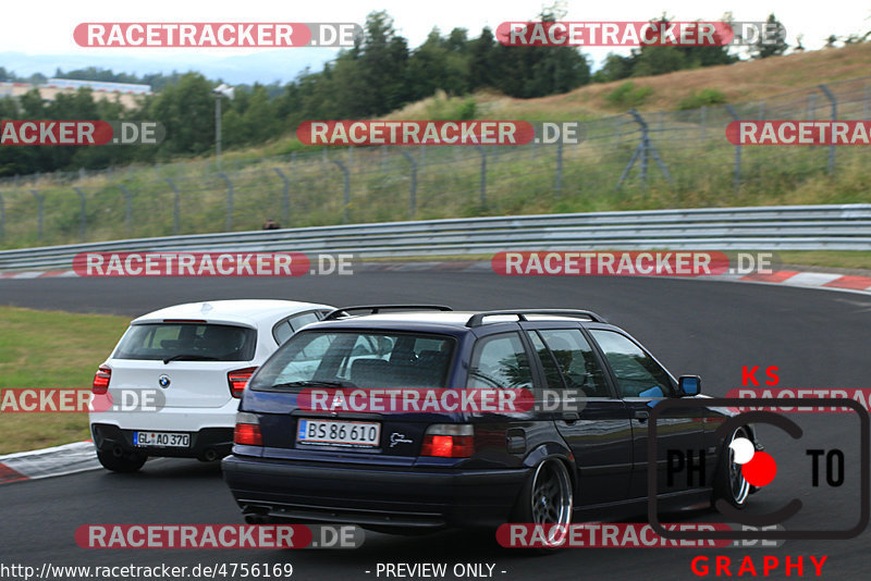
M 140 447 L 133 445 L 133 432 L 122 430 L 108 423 L 90 424 L 94 445 L 101 452 L 113 452 L 121 447 L 124 454 L 145 453 L 148 456 L 165 456 L 171 458 L 199 458 L 212 460 L 230 454 L 233 449 L 232 428 L 204 428 L 191 433 L 191 446 L 187 448 Z M 160 430 L 156 430 L 160 431 Z M 187 432 L 186 430 L 172 430 Z

